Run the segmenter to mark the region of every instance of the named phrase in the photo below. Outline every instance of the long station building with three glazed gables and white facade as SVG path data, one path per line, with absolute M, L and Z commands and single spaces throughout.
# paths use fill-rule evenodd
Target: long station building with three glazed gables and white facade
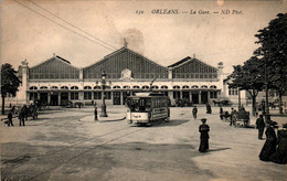
M 29 67 L 26 61 L 22 62 L 19 66 L 22 85 L 15 99 L 18 104 L 41 100 L 50 106 L 67 102 L 102 104 L 102 74 L 105 72 L 107 105 L 124 105 L 126 97 L 132 93 L 148 91 L 164 93 L 171 103 L 180 98 L 206 104 L 228 97 L 222 71 L 222 64 L 213 67 L 195 56 L 187 56 L 166 67 L 127 46 L 83 68 L 53 55 L 33 67 Z

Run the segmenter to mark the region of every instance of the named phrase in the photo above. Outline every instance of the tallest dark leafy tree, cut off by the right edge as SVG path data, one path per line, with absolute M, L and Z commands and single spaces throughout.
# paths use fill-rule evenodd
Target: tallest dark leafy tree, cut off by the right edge
M 261 44 L 258 57 L 262 57 L 267 66 L 267 85 L 277 91 L 279 111 L 283 114 L 281 96 L 287 89 L 287 13 L 277 14 L 277 18 L 255 36 L 258 39 L 256 43 Z

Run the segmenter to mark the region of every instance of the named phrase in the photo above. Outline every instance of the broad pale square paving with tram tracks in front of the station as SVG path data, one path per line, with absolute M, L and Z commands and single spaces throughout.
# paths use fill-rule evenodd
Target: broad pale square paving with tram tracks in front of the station
M 219 107 L 211 115 L 199 107 L 196 120 L 191 109 L 173 107 L 170 123 L 151 127 L 127 124 L 121 106 L 108 107 L 109 117 L 99 121 L 86 107 L 45 111 L 25 127 L 18 120 L 14 127 L 1 123 L 1 179 L 286 180 L 286 164 L 258 159 L 264 140 L 257 139 L 256 129 L 230 127 L 220 120 Z M 198 151 L 202 117 L 211 127 L 206 153 Z

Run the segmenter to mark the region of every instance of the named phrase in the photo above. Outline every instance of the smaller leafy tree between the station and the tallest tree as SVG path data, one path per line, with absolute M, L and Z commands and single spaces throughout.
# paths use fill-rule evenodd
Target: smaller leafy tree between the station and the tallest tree
M 263 72 L 262 72 L 262 61 L 256 56 L 252 56 L 249 60 L 244 62 L 244 65 L 233 66 L 234 71 L 228 76 L 232 79 L 230 87 L 245 89 L 252 96 L 252 114 L 255 116 L 256 109 L 256 97 L 258 92 L 263 88 Z

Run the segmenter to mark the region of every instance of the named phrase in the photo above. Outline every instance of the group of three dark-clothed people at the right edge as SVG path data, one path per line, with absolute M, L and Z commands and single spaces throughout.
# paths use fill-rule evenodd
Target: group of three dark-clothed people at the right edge
M 259 153 L 259 159 L 262 161 L 273 161 L 276 163 L 286 164 L 287 163 L 287 125 L 284 126 L 284 129 L 277 131 L 278 128 L 276 121 L 264 121 L 263 115 L 259 115 L 259 118 L 256 120 L 256 128 L 258 129 L 258 139 L 263 139 L 264 129 L 266 135 L 266 141 Z

